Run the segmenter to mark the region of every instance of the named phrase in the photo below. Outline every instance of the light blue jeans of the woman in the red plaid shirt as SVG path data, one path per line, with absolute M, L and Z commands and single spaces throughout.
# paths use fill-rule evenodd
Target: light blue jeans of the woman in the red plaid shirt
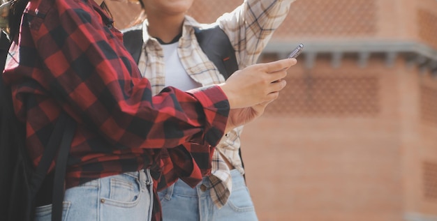
M 99 178 L 69 188 L 62 220 L 151 220 L 153 181 L 149 170 Z M 50 221 L 52 205 L 36 208 L 36 221 Z

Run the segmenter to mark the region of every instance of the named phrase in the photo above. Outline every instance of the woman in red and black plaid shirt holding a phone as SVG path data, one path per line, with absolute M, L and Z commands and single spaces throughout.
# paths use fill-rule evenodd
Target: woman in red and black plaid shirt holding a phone
M 262 114 L 296 62 L 250 66 L 223 84 L 186 92 L 168 87 L 151 96 L 101 2 L 27 1 L 15 1 L 10 10 L 11 33 L 19 35 L 11 36 L 3 78 L 26 124 L 34 165 L 59 114 L 77 121 L 64 220 L 161 220 L 153 183 L 161 175 L 161 148 L 215 146 L 225 132 Z M 175 154 L 192 161 L 183 149 Z M 184 165 L 180 169 L 190 171 L 192 164 Z M 51 206 L 38 205 L 36 220 L 50 217 Z

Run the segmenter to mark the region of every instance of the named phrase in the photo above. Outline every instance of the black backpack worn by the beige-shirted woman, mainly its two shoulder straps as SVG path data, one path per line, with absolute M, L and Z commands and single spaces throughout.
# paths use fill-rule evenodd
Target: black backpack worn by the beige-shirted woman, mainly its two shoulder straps
M 133 26 L 123 31 L 124 47 L 131 53 L 133 59 L 138 63 L 140 61 L 142 45 L 142 24 Z M 212 61 L 218 71 L 228 79 L 232 73 L 238 70 L 237 57 L 235 56 L 235 49 L 232 47 L 228 36 L 218 24 L 207 29 L 194 28 L 195 37 L 198 40 L 200 48 L 207 55 L 209 61 Z M 239 148 L 239 157 L 242 160 L 242 167 L 244 168 L 242 158 L 242 148 Z M 244 178 L 246 177 L 243 175 Z

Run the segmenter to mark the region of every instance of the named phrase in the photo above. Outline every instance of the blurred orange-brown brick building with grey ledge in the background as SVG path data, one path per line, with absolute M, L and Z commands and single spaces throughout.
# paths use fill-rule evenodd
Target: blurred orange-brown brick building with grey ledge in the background
M 205 23 L 242 3 L 194 2 Z M 297 0 L 260 62 L 299 43 L 242 138 L 260 220 L 437 221 L 437 1 Z

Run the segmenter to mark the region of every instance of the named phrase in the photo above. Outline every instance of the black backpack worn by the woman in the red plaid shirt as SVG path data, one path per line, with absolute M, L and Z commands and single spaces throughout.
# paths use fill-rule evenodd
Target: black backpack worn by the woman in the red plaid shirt
M 1 31 L 0 65 L 3 72 L 10 41 Z M 34 168 L 26 151 L 25 125 L 17 119 L 13 109 L 10 86 L 0 75 L 0 216 L 2 220 L 34 219 L 36 199 L 41 188 L 52 192 L 52 220 L 61 220 L 64 200 L 64 178 L 68 151 L 75 132 L 75 121 L 61 112 L 43 157 Z M 59 151 L 59 153 L 58 153 Z M 53 176 L 47 171 L 58 153 Z M 61 163 L 59 163 L 61 162 Z M 46 191 L 47 192 L 47 191 Z M 45 192 L 45 193 L 46 193 Z

